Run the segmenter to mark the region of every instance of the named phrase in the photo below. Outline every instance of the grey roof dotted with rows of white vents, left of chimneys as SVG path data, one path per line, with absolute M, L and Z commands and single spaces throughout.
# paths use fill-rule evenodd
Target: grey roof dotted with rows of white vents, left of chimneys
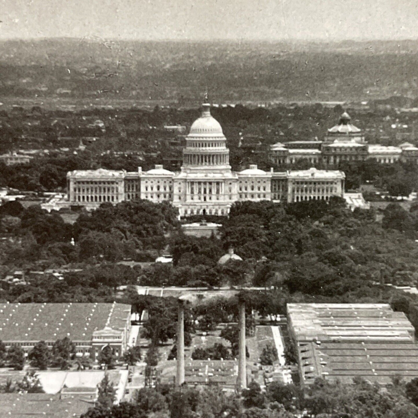
M 121 303 L 2 303 L 0 340 L 55 342 L 68 336 L 73 342 L 91 341 L 93 332 L 109 326 L 123 330 L 130 305 Z

